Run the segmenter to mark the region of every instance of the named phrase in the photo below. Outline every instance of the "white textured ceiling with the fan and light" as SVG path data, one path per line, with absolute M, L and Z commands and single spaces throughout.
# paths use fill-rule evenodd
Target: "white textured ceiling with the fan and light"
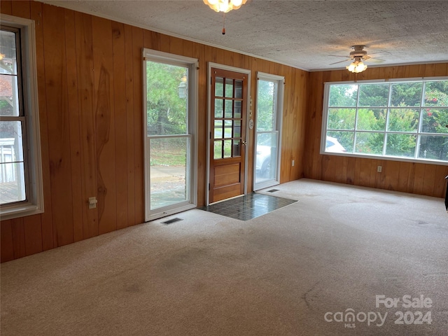
M 332 64 L 366 45 L 380 65 L 448 62 L 448 1 L 248 0 L 225 15 L 195 1 L 42 1 L 300 69 Z M 372 61 L 370 66 L 378 65 Z

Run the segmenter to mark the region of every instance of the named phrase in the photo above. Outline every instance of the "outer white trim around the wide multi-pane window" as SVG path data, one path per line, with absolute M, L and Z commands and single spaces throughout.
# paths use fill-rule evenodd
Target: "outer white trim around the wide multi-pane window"
M 406 158 L 406 157 L 395 157 L 395 156 L 386 156 L 386 155 L 367 155 L 367 154 L 355 154 L 355 153 L 334 153 L 334 152 L 325 152 L 325 144 L 327 134 L 327 120 L 328 120 L 328 98 L 330 94 L 330 85 L 337 84 L 374 84 L 374 83 L 400 83 L 400 82 L 412 82 L 412 81 L 430 81 L 430 80 L 448 80 L 447 76 L 436 76 L 436 77 L 417 77 L 417 78 L 393 78 L 393 79 L 376 79 L 376 80 L 347 80 L 347 81 L 337 81 L 337 82 L 325 82 L 323 88 L 323 111 L 322 111 L 322 125 L 321 125 L 321 146 L 320 146 L 320 154 L 321 155 L 334 155 L 334 156 L 344 156 L 351 158 L 366 158 L 366 159 L 375 159 L 375 160 L 388 160 L 388 161 L 398 161 L 398 162 L 415 162 L 415 163 L 423 163 L 428 165 L 442 165 L 447 166 L 448 162 L 437 161 L 437 160 L 429 160 L 423 158 Z

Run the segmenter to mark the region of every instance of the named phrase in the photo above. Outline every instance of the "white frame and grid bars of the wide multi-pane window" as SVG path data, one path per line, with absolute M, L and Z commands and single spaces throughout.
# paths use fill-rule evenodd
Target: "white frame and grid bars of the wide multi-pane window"
M 448 165 L 448 162 L 442 161 L 442 160 L 433 160 L 433 159 L 426 159 L 426 158 L 409 158 L 405 156 L 392 156 L 392 155 L 386 155 L 386 141 L 384 141 L 383 144 L 383 153 L 381 155 L 374 155 L 374 154 L 365 154 L 365 153 L 335 153 L 330 151 L 325 151 L 325 145 L 326 145 L 326 134 L 328 132 L 328 111 L 329 111 L 329 102 L 330 102 L 330 86 L 331 85 L 358 85 L 358 84 L 381 84 L 381 83 L 387 83 L 387 84 L 395 84 L 395 83 L 424 83 L 424 82 L 430 82 L 430 81 L 437 81 L 437 80 L 448 80 L 448 76 L 434 76 L 434 77 L 419 77 L 419 78 L 393 78 L 393 79 L 378 79 L 378 80 L 350 80 L 350 81 L 337 81 L 337 82 L 325 82 L 324 88 L 323 88 L 323 111 L 322 111 L 322 123 L 321 123 L 321 144 L 320 144 L 320 154 L 321 155 L 335 155 L 335 156 L 343 156 L 343 157 L 352 157 L 352 158 L 370 158 L 370 159 L 377 159 L 377 160 L 391 160 L 391 161 L 399 161 L 399 162 L 419 162 L 419 163 L 426 163 L 430 165 Z M 422 99 L 423 99 L 423 93 L 422 91 Z M 356 105 L 353 106 L 353 109 L 363 109 L 363 106 L 359 106 L 358 104 L 359 94 L 356 99 Z M 331 108 L 338 108 L 339 106 L 332 106 Z M 340 106 L 341 108 L 346 108 L 345 106 Z M 366 106 L 367 108 L 370 106 Z M 382 106 L 381 106 L 382 107 Z M 387 130 L 387 119 L 389 118 L 389 110 L 393 109 L 395 106 L 391 106 L 390 102 L 390 91 L 389 91 L 389 99 L 388 99 L 388 105 L 384 107 L 388 111 L 386 114 L 386 125 L 384 130 L 378 130 L 378 131 L 365 131 L 365 130 L 356 130 L 356 125 L 353 128 L 353 133 L 356 132 L 379 132 L 384 134 L 405 134 L 405 132 L 399 132 L 399 131 L 388 131 Z M 438 106 L 437 106 L 438 107 Z M 442 106 L 443 108 L 445 106 Z M 409 106 L 409 108 L 414 109 L 423 109 L 423 105 L 420 106 Z M 421 116 L 420 116 L 421 121 Z M 356 117 L 355 117 L 355 123 L 356 123 Z M 420 127 L 420 125 L 419 125 Z M 418 155 L 418 146 L 420 144 L 420 137 L 423 135 L 428 135 L 428 132 L 420 132 L 419 129 L 416 130 L 414 133 L 416 135 L 416 150 L 415 155 Z M 433 134 L 433 133 L 430 133 Z M 434 133 L 435 134 L 435 133 Z M 448 135 L 448 134 L 445 134 Z M 440 134 L 442 136 L 442 134 Z M 353 144 L 354 145 L 354 144 Z M 353 148 L 354 151 L 354 148 Z

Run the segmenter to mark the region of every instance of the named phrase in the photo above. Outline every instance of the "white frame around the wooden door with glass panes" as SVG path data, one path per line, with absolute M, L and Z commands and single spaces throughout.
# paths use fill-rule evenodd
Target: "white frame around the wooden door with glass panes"
M 212 68 L 216 68 L 216 69 L 221 69 L 221 70 L 226 70 L 226 71 L 234 71 L 234 72 L 239 72 L 239 73 L 244 73 L 248 80 L 247 80 L 247 113 L 246 113 L 246 139 L 243 141 L 246 141 L 246 153 L 244 154 L 244 162 L 245 162 L 245 169 L 244 169 L 244 194 L 247 194 L 247 177 L 248 177 L 248 146 L 250 146 L 251 144 L 249 144 L 248 139 L 249 139 L 249 119 L 252 118 L 253 113 L 252 113 L 252 106 L 251 106 L 251 81 L 252 81 L 252 77 L 251 77 L 251 70 L 248 69 L 241 69 L 241 68 L 237 68 L 235 66 L 228 66 L 228 65 L 223 65 L 223 64 L 218 64 L 218 63 L 214 63 L 214 62 L 207 62 L 207 172 L 206 172 L 206 188 L 205 188 L 205 205 L 209 205 L 210 204 L 210 195 L 209 195 L 209 185 L 210 185 L 210 137 L 209 134 L 211 134 L 211 127 L 210 127 L 210 123 L 211 123 L 211 69 Z M 238 196 L 237 196 L 238 197 Z M 220 201 L 221 202 L 221 201 Z

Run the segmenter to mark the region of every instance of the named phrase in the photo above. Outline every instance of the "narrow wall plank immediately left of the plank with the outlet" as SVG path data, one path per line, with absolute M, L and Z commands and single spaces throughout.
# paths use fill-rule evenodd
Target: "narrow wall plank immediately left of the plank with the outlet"
M 83 239 L 83 181 L 80 148 L 80 113 L 78 106 L 78 74 L 76 72 L 76 28 L 73 10 L 64 10 L 65 48 L 67 69 L 67 94 L 69 99 L 71 194 L 73 195 L 73 240 Z

